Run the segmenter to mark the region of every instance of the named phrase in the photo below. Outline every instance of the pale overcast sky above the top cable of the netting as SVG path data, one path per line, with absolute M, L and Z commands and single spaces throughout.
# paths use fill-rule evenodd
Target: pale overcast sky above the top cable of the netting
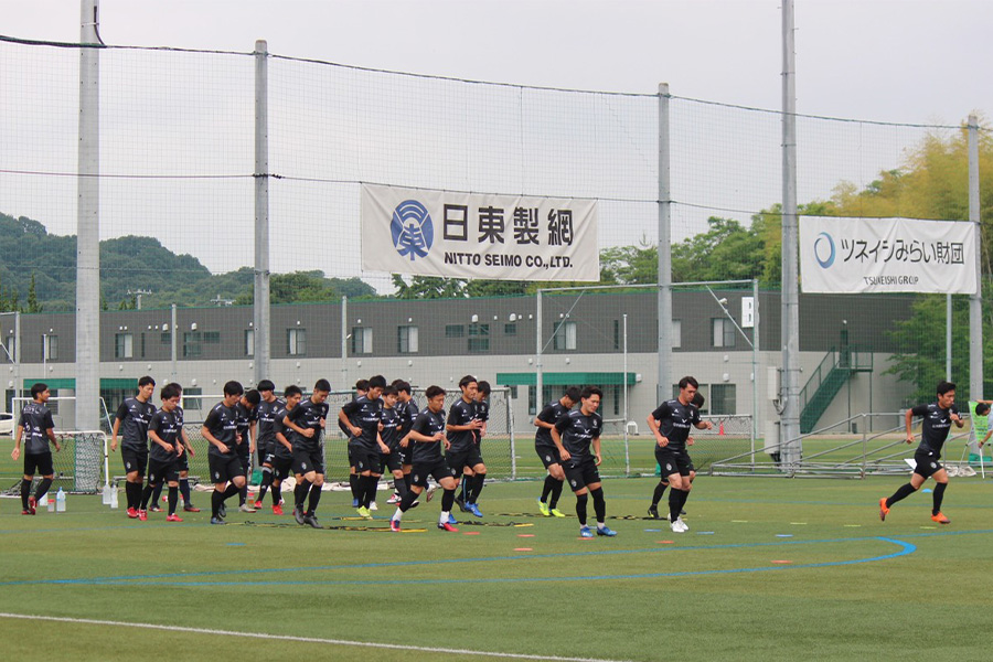
M 78 41 L 78 0 L 0 0 L 0 32 Z M 100 0 L 116 45 L 269 51 L 462 78 L 780 107 L 778 0 Z M 798 0 L 800 113 L 993 110 L 989 0 Z

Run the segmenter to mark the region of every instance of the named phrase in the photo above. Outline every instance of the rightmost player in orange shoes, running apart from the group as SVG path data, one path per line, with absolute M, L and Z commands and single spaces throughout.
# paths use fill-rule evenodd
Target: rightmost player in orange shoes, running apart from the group
M 938 460 L 941 459 L 941 447 L 948 439 L 948 433 L 951 430 L 951 424 L 962 427 L 964 421 L 959 416 L 955 408 L 955 385 L 952 382 L 938 382 L 938 402 L 928 405 L 917 405 L 911 409 L 907 409 L 907 444 L 914 444 L 914 433 L 910 426 L 915 416 L 922 416 L 923 421 L 920 426 L 920 446 L 914 452 L 914 461 L 917 467 L 910 474 L 910 482 L 901 485 L 889 499 L 879 500 L 879 519 L 886 520 L 889 509 L 897 501 L 906 499 L 920 489 L 928 478 L 933 477 L 935 493 L 931 508 L 931 520 L 939 524 L 948 524 L 951 522 L 941 514 L 941 500 L 944 498 L 944 489 L 948 488 L 948 471 L 944 470 Z

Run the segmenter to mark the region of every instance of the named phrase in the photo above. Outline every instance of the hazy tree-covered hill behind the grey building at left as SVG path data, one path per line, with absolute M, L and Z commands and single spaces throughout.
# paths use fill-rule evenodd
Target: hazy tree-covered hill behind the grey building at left
M 76 237 L 49 234 L 25 216 L 0 213 L 0 310 L 30 310 L 31 281 L 44 311 L 74 309 Z M 211 306 L 218 296 L 250 303 L 253 271 L 243 267 L 211 274 L 192 255 L 177 255 L 152 237 L 127 236 L 100 242 L 100 296 L 105 308 L 135 305 L 130 292 L 145 291 L 142 308 Z M 337 300 L 342 296 L 375 296 L 359 278 L 324 278 L 321 271 L 274 275 L 273 303 Z

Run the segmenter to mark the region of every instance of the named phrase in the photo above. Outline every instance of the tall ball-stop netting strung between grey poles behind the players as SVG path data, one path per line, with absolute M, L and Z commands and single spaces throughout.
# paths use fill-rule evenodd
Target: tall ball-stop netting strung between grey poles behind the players
M 55 394 L 75 388 L 79 51 L 0 40 L 0 312 L 30 313 L 0 314 L 8 410 L 34 381 Z M 749 417 L 749 448 L 775 441 L 779 113 L 269 54 L 263 131 L 258 62 L 250 52 L 99 49 L 100 388 L 110 410 L 142 374 L 160 385 L 178 381 L 191 396 L 220 393 L 231 378 L 252 385 L 255 191 L 264 180 L 268 376 L 280 391 L 307 389 L 323 377 L 345 392 L 372 374 L 452 388 L 474 374 L 505 389 L 508 435 L 520 440 L 512 458 L 520 461 L 500 474 L 527 476 L 542 473 L 528 448 L 536 412 L 564 387 L 597 385 L 611 445 L 605 469 L 651 469 L 644 419 L 673 386 L 656 387 L 652 287 L 660 205 L 668 205 L 676 284 L 672 381 L 696 376 L 708 416 Z M 661 136 L 666 108 L 670 128 Z M 263 134 L 268 169 L 257 172 Z M 993 141 L 985 128 L 979 136 L 986 181 Z M 802 214 L 969 216 L 962 126 L 801 115 L 797 141 Z M 671 175 L 670 200 L 662 201 L 660 150 Z M 431 280 L 364 270 L 363 183 L 595 200 L 600 281 Z M 991 190 L 981 186 L 984 231 Z M 989 279 L 985 254 L 983 265 Z M 547 292 L 540 311 L 538 290 L 560 286 L 608 288 Z M 968 305 L 960 296 L 951 303 L 952 375 L 964 385 Z M 889 418 L 858 416 L 898 415 L 931 397 L 946 373 L 944 306 L 940 295 L 801 293 L 801 428 L 859 434 L 858 426 L 875 430 L 880 420 L 882 430 Z M 751 325 L 749 310 L 759 311 Z M 993 316 L 983 319 L 993 337 Z M 969 395 L 960 387 L 961 398 Z M 725 441 L 726 452 L 737 452 L 737 441 L 719 435 L 701 449 L 717 457 Z

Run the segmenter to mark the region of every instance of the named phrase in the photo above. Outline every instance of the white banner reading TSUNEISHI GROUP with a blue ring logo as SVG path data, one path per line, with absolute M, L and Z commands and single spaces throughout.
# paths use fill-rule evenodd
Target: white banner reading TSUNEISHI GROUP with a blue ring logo
M 972 223 L 800 217 L 804 292 L 976 291 Z

